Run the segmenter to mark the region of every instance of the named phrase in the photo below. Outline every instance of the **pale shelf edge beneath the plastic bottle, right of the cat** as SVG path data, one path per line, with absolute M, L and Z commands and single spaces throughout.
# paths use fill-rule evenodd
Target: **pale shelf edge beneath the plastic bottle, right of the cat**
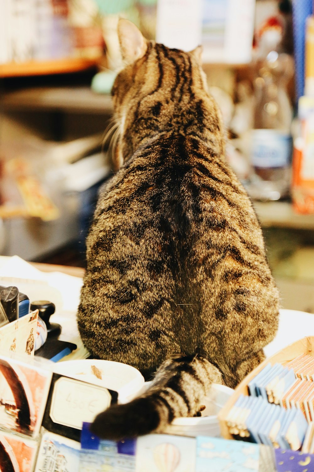
M 289 202 L 253 202 L 264 227 L 314 229 L 314 214 L 296 213 Z

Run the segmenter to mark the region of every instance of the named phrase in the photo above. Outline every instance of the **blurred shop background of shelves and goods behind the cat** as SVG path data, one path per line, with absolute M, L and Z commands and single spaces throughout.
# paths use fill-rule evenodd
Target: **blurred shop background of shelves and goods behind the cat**
M 112 174 L 119 17 L 192 50 L 247 188 L 284 308 L 314 312 L 312 0 L 1 0 L 0 255 L 84 267 Z

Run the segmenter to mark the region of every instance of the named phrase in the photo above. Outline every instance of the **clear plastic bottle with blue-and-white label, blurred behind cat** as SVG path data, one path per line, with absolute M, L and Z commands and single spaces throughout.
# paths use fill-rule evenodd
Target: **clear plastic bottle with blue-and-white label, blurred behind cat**
M 251 132 L 253 175 L 249 193 L 257 200 L 279 200 L 289 195 L 292 107 L 287 83 L 293 59 L 271 51 L 255 79 L 256 108 Z

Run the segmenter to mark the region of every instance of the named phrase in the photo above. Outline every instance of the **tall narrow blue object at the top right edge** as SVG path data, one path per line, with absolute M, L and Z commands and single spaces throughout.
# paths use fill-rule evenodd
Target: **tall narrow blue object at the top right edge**
M 313 14 L 313 0 L 293 0 L 292 20 L 293 20 L 293 40 L 294 59 L 296 70 L 296 93 L 299 99 L 304 95 L 305 84 L 305 33 L 306 18 Z M 297 100 L 298 102 L 298 100 Z

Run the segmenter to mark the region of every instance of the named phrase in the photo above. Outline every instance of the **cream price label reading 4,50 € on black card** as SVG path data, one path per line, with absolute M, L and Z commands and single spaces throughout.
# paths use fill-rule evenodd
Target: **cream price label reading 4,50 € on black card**
M 52 394 L 50 418 L 55 423 L 81 430 L 83 421 L 92 422 L 110 404 L 111 395 L 105 388 L 61 377 L 56 380 Z

